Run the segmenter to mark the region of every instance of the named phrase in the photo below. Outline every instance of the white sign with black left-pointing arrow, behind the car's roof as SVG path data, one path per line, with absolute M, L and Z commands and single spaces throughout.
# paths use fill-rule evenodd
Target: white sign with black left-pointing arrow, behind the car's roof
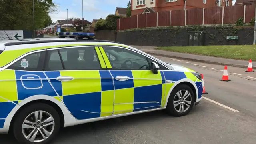
M 23 30 L 0 30 L 0 40 L 8 40 L 8 34 L 10 39 L 20 40 L 23 39 Z

